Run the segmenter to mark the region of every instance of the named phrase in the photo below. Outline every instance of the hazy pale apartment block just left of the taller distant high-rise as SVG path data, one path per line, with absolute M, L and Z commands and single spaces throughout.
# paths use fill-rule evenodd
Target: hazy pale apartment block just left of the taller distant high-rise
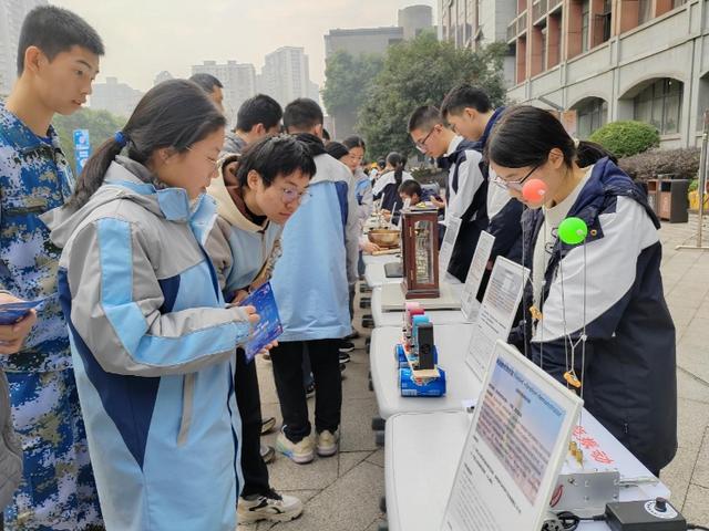
M 242 103 L 256 94 L 256 69 L 250 63 L 227 61 L 204 61 L 192 67 L 192 74 L 212 74 L 222 82 L 224 88 L 224 113 L 229 124 L 236 122 L 236 113 Z

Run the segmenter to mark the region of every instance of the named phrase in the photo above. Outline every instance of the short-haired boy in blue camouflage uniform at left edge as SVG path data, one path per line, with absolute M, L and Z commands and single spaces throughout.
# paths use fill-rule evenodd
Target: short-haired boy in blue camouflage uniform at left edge
M 47 299 L 24 346 L 2 357 L 24 449 L 24 480 L 6 510 L 7 529 L 102 524 L 56 293 L 60 251 L 39 220 L 73 187 L 51 121 L 83 105 L 101 55 L 101 38 L 81 18 L 39 7 L 22 24 L 19 79 L 0 104 L 0 289 L 23 300 Z

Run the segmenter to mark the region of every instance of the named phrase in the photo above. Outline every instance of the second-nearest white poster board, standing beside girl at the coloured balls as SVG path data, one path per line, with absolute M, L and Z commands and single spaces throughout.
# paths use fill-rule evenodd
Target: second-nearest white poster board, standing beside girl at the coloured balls
M 495 260 L 465 356 L 465 363 L 481 383 L 495 342 L 507 341 L 528 275 L 530 270 L 518 263 L 504 257 Z

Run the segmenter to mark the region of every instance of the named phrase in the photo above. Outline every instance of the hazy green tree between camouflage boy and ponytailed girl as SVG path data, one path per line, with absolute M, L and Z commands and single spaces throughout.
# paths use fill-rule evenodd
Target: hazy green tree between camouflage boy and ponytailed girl
M 82 108 L 70 116 L 56 116 L 53 125 L 59 134 L 62 149 L 69 159 L 69 164 L 71 164 L 71 169 L 74 173 L 76 171 L 74 129 L 89 129 L 91 147 L 95 149 L 112 137 L 116 131 L 121 131 L 125 122 L 125 118 L 115 116 L 107 111 L 93 111 L 91 108 Z

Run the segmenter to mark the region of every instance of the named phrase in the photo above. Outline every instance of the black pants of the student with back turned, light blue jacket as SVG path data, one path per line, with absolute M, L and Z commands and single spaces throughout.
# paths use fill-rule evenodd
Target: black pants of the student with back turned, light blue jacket
M 270 351 L 276 392 L 284 417 L 284 434 L 292 442 L 310 435 L 308 402 L 302 386 L 302 354 L 310 356 L 315 378 L 315 428 L 320 433 L 335 430 L 340 425 L 342 409 L 342 379 L 338 346 L 340 340 L 281 342 Z

